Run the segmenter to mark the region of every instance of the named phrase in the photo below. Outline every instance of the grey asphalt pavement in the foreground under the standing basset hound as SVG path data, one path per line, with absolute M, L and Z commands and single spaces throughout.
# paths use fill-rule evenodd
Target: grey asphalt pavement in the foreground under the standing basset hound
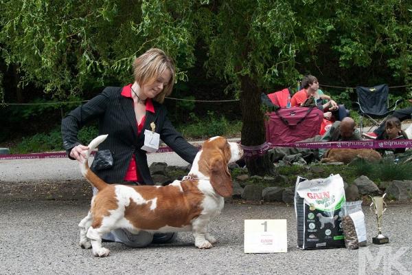
M 87 214 L 88 205 L 87 200 L 2 203 L 0 274 L 354 275 L 412 272 L 411 206 L 390 206 L 385 212 L 383 232 L 390 240 L 387 245 L 371 244 L 376 223 L 369 209 L 364 208 L 368 246 L 361 250 L 299 250 L 292 206 L 229 203 L 211 223 L 218 243 L 210 250 L 198 250 L 191 234 L 183 232 L 176 243 L 143 249 L 104 243 L 111 254 L 99 259 L 92 256 L 91 250 L 82 250 L 78 245 L 77 224 Z M 288 252 L 244 254 L 244 219 L 286 219 Z M 389 270 L 384 273 L 384 268 Z

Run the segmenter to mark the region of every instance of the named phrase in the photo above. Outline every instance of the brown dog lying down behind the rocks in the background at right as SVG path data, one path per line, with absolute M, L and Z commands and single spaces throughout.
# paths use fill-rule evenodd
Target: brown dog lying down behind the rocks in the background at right
M 326 151 L 321 162 L 343 162 L 348 164 L 356 157 L 370 162 L 377 162 L 382 159 L 380 153 L 373 149 L 332 148 Z

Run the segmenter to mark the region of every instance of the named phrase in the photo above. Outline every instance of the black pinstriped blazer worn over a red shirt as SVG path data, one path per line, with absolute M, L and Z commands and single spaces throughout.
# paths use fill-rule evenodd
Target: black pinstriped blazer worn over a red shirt
M 137 169 L 143 184 L 153 184 L 148 167 L 144 144 L 144 130 L 155 122 L 155 131 L 161 140 L 173 149 L 186 162 L 192 164 L 198 148 L 192 146 L 177 132 L 166 116 L 162 104 L 153 102 L 155 113 L 146 111 L 146 121 L 141 133 L 137 135 L 137 122 L 133 99 L 121 95 L 122 87 L 106 87 L 102 94 L 74 109 L 62 119 L 63 146 L 69 155 L 71 148 L 80 144 L 78 131 L 90 120 L 99 120 L 99 135 L 108 134 L 107 139 L 99 145 L 99 151 L 110 150 L 113 166 L 104 170 L 93 170 L 101 179 L 111 184 L 122 183 L 132 155 L 135 155 Z M 71 158 L 71 157 L 70 157 Z M 72 158 L 71 158 L 72 159 Z

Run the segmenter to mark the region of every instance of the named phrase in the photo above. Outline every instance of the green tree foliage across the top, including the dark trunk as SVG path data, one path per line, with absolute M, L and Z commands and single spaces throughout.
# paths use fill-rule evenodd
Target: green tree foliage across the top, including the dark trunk
M 67 98 L 126 83 L 133 59 L 149 47 L 168 52 L 179 80 L 190 81 L 187 69 L 206 52 L 207 75 L 240 98 L 248 145 L 264 141 L 260 92 L 295 85 L 302 74 L 339 86 L 412 84 L 406 0 L 0 3 L 2 57 L 19 68 L 21 85 Z

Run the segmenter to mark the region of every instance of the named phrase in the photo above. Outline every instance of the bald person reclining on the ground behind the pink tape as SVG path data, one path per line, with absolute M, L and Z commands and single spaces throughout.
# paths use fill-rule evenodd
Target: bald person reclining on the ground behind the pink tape
M 349 140 L 362 140 L 361 133 L 355 128 L 356 124 L 352 118 L 343 118 L 342 121 L 335 121 L 324 135 L 315 135 L 301 142 L 337 142 Z M 286 155 L 296 155 L 301 153 L 308 162 L 314 159 L 321 159 L 328 148 L 310 149 L 295 147 L 276 147 L 268 151 L 272 162 L 279 162 Z

